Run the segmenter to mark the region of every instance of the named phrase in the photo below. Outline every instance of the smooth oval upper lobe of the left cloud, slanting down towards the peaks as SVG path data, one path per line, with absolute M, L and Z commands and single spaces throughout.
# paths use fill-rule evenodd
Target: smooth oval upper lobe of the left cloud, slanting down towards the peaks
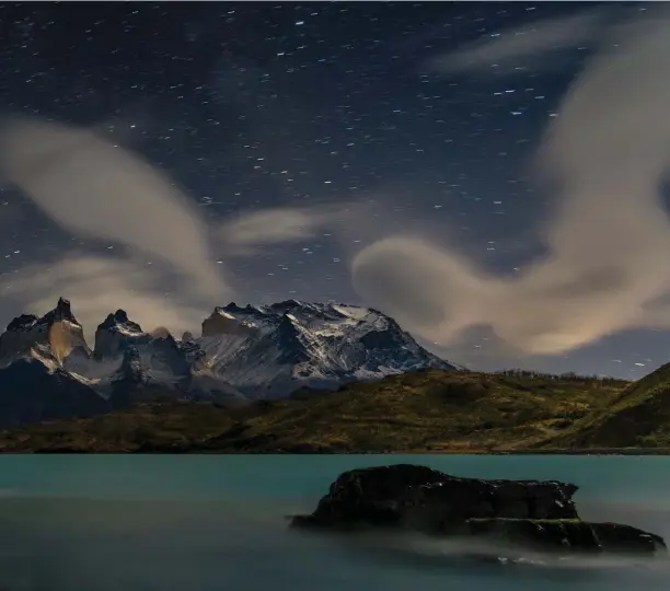
M 228 291 L 197 209 L 137 154 L 86 129 L 11 119 L 0 134 L 0 166 L 66 230 L 158 257 L 204 294 Z

